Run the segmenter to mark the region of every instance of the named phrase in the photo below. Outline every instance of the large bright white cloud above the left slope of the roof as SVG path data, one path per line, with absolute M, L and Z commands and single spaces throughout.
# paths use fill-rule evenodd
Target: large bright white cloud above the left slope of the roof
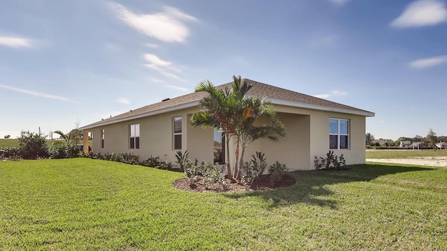
M 198 21 L 177 8 L 165 6 L 163 12 L 136 14 L 119 3 L 110 3 L 118 17 L 137 31 L 163 42 L 182 43 L 189 36 L 189 28 L 182 21 Z

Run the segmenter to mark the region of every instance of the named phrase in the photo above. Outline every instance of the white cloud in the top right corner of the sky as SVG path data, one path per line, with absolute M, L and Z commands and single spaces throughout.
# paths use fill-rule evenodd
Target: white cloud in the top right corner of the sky
M 447 9 L 439 0 L 420 0 L 406 6 L 404 13 L 397 17 L 391 26 L 408 28 L 430 26 L 447 22 Z

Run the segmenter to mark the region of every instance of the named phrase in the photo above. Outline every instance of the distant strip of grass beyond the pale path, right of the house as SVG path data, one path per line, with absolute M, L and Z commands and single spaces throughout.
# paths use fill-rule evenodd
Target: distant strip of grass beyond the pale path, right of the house
M 447 157 L 446 150 L 367 150 L 366 158 L 430 158 Z

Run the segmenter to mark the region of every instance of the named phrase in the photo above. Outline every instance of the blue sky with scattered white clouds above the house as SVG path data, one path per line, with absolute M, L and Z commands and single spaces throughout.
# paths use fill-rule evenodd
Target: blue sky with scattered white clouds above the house
M 445 0 L 6 1 L 0 137 L 68 131 L 242 75 L 447 135 Z

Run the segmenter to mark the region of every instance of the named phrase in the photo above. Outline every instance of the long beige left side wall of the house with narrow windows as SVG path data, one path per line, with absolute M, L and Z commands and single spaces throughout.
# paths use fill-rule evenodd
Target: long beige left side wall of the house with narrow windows
M 189 126 L 191 113 L 196 109 L 184 109 L 141 119 L 113 123 L 91 130 L 94 153 L 133 153 L 139 160 L 151 155 L 175 164 L 173 118 L 182 116 L 182 151 L 188 150 L 191 159 L 213 160 L 213 132 Z M 129 149 L 129 126 L 140 124 L 140 149 Z M 101 129 L 104 129 L 104 148 L 101 149 Z

